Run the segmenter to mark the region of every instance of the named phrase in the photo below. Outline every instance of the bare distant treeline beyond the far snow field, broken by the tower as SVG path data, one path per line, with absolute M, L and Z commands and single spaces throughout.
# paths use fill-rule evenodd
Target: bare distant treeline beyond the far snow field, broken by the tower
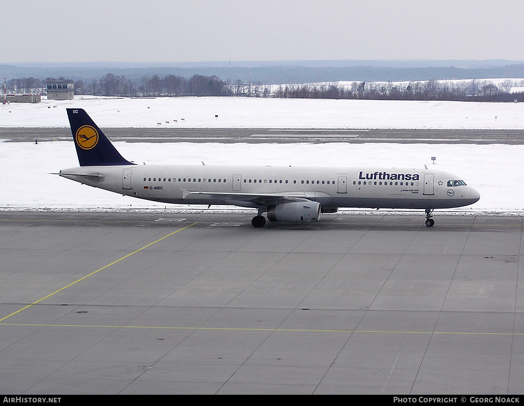
M 41 93 L 46 78 L 12 79 L 7 82 L 9 93 Z M 59 78 L 63 80 L 63 78 Z M 487 80 L 423 82 L 337 82 L 320 84 L 289 84 L 280 86 L 244 83 L 241 80 L 223 81 L 217 76 L 193 75 L 191 78 L 166 75 L 144 76 L 136 83 L 125 76 L 108 73 L 99 80 L 74 82 L 75 94 L 121 97 L 177 97 L 177 96 L 244 96 L 281 98 L 332 98 L 364 100 L 437 100 L 437 101 L 486 101 L 524 102 L 524 91 L 514 92 L 514 87 L 524 87 L 524 80 L 505 80 L 497 86 Z

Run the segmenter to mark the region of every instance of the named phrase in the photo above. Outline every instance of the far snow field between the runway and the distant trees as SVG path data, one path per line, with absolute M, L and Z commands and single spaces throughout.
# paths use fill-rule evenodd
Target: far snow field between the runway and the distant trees
M 67 101 L 0 105 L 0 127 L 68 127 L 66 107 L 84 108 L 104 128 L 520 129 L 524 126 L 523 103 L 76 96 Z

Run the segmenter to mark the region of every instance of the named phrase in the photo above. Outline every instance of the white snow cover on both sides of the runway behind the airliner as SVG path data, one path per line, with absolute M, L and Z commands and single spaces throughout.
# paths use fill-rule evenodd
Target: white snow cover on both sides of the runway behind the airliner
M 53 107 L 57 106 L 57 107 Z M 50 108 L 48 108 L 50 107 Z M 522 128 L 514 103 L 311 101 L 248 98 L 90 99 L 0 107 L 0 127 L 68 126 L 65 107 L 82 107 L 101 127 Z M 150 107 L 150 108 L 147 108 Z M 9 113 L 10 112 L 10 113 Z M 293 114 L 294 113 L 294 114 Z M 214 115 L 219 118 L 215 119 Z M 494 116 L 497 115 L 497 120 Z M 310 117 L 311 116 L 311 117 Z M 485 118 L 483 118 L 486 116 Z M 488 118 L 493 116 L 492 119 Z M 162 119 L 160 120 L 161 117 Z M 345 120 L 352 117 L 352 123 Z M 467 117 L 467 118 L 466 118 Z M 185 118 L 183 122 L 180 118 Z M 316 119 L 315 119 L 316 118 Z M 356 122 L 356 124 L 355 124 Z M 343 124 L 345 123 L 345 124 Z M 395 125 L 393 125 L 395 124 Z M 174 124 L 170 123 L 171 126 Z M 0 128 L 1 131 L 1 128 Z M 109 131 L 107 131 L 109 133 Z M 1 134 L 1 132 L 0 132 Z M 524 214 L 524 145 L 205 144 L 115 142 L 135 162 L 239 165 L 423 167 L 456 174 L 481 200 L 455 212 Z M 0 141 L 3 210 L 137 210 L 165 205 L 106 192 L 49 174 L 78 166 L 71 141 Z M 174 206 L 171 206 L 174 208 Z M 178 206 L 190 209 L 190 206 Z M 203 207 L 202 207 L 203 208 Z M 218 207 L 215 207 L 217 209 Z M 169 209 L 169 206 L 168 206 Z M 379 212 L 380 213 L 380 212 Z

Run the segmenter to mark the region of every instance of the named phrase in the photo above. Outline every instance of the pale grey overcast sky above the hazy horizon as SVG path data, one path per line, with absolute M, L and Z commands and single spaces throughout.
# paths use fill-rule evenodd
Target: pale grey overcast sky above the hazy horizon
M 524 60 L 524 0 L 1 0 L 0 63 Z

